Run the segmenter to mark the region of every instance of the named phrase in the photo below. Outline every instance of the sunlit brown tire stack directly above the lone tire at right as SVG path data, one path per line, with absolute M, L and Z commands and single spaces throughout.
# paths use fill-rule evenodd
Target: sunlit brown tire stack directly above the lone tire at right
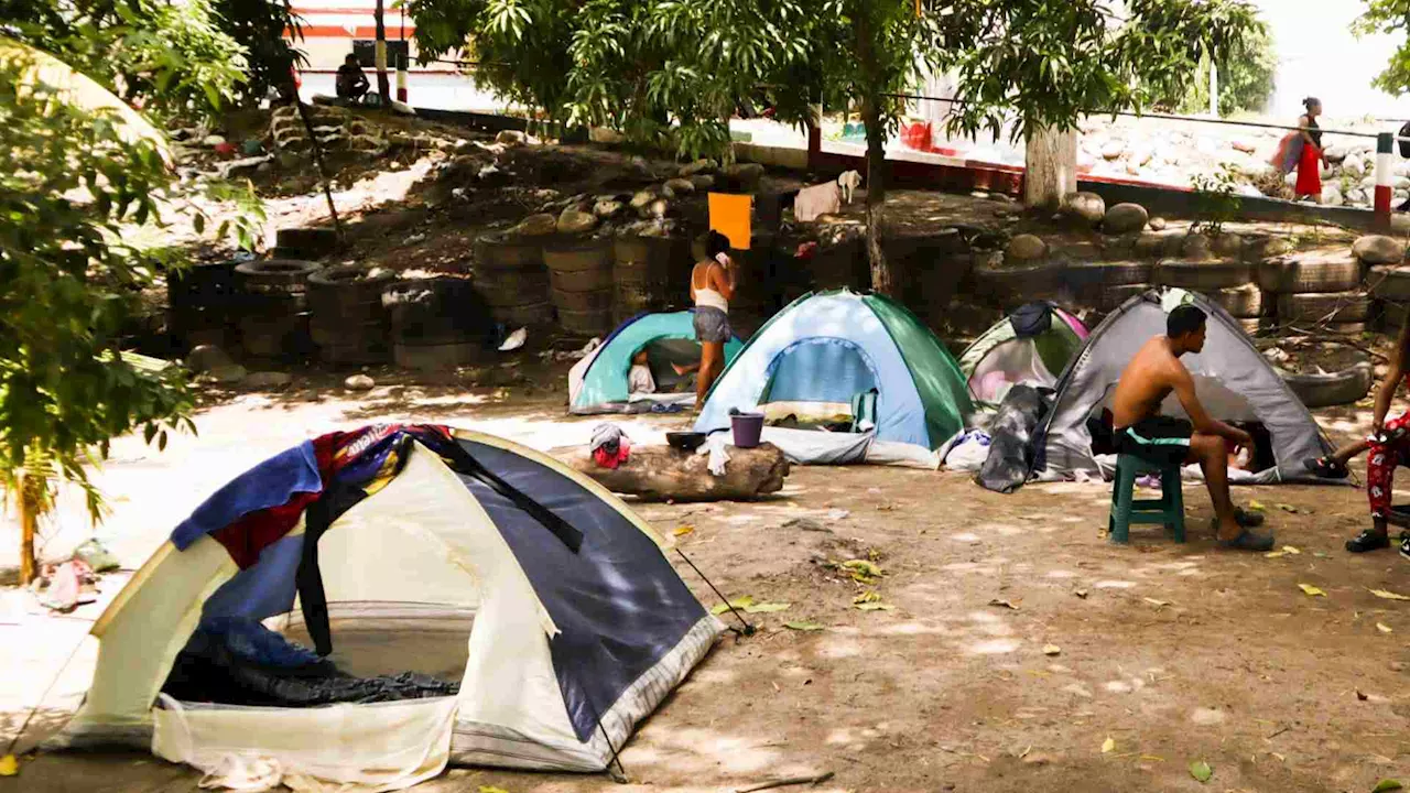
M 1362 265 L 1345 248 L 1318 248 L 1265 258 L 1258 267 L 1270 322 L 1285 333 L 1361 333 L 1371 315 Z

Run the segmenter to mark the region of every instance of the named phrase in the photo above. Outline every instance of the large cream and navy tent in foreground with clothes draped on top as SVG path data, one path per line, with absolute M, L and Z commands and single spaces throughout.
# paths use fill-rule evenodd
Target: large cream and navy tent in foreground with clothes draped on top
M 599 770 L 723 629 L 661 547 L 515 443 L 324 435 L 217 491 L 133 576 L 51 745 L 265 758 L 330 790 L 447 763 Z

